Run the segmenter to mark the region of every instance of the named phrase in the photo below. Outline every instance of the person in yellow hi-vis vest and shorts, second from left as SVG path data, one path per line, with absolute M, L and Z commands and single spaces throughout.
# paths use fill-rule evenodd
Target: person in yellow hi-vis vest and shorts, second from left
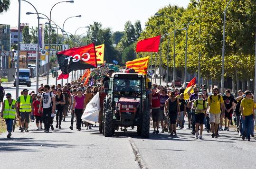
M 23 95 L 21 95 L 16 103 L 19 103 L 19 111 L 21 116 L 21 130 L 20 132 L 28 132 L 28 123 L 30 118 L 31 110 L 33 109 L 33 101 L 31 96 L 28 95 L 28 89 L 23 89 Z M 24 126 L 26 120 L 26 126 Z M 26 128 L 25 128 L 26 127 Z

